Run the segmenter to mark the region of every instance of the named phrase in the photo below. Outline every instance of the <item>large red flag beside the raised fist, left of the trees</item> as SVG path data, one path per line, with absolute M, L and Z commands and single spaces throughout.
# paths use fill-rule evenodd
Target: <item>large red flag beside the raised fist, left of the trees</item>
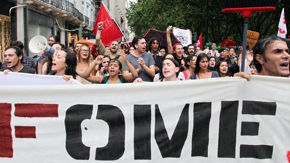
M 110 45 L 112 41 L 118 41 L 123 37 L 122 32 L 114 23 L 110 15 L 108 14 L 104 4 L 101 4 L 101 8 L 98 13 L 93 31 L 96 34 L 98 29 L 98 22 L 103 21 L 103 29 L 101 32 L 101 38 L 104 45 Z

